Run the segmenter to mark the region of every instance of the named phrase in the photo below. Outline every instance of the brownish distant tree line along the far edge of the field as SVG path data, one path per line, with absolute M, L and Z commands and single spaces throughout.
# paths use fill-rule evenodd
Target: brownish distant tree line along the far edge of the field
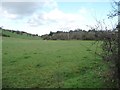
M 50 32 L 49 34 L 42 35 L 41 37 L 44 40 L 96 40 L 96 39 L 103 39 L 103 38 L 110 38 L 111 35 L 114 36 L 117 32 L 111 30 L 70 30 L 69 32 L 64 31 L 57 31 L 57 32 Z M 103 37 L 103 35 L 105 37 Z

